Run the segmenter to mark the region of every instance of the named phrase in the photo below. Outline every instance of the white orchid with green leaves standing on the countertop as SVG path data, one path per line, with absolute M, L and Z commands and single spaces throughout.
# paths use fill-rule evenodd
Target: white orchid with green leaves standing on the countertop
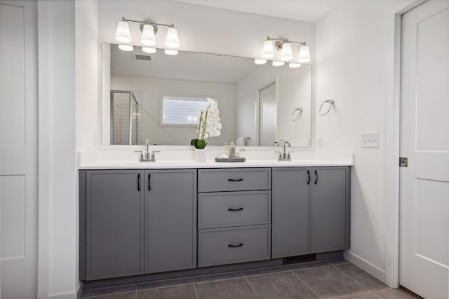
M 220 136 L 220 130 L 222 129 L 217 102 L 209 97 L 207 100 L 208 106 L 201 109 L 199 115 L 196 139 L 190 141 L 190 144 L 198 149 L 206 148 L 208 144 L 204 139 Z

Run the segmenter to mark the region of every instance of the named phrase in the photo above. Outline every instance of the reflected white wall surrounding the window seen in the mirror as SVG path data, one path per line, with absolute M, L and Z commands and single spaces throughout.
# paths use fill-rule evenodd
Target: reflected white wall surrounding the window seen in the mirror
M 225 144 L 235 139 L 236 85 L 205 81 L 173 80 L 129 76 L 111 76 L 112 90 L 142 92 L 142 141 L 152 144 L 190 145 L 196 137 L 196 127 L 168 127 L 160 125 L 161 98 L 211 97 L 218 102 L 223 128 L 220 137 L 209 138 L 210 145 Z

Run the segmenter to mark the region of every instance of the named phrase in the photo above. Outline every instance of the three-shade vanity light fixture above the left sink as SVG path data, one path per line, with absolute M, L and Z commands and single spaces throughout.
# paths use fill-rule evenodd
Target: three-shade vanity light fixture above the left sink
M 142 37 L 140 43 L 142 43 L 142 51 L 145 53 L 156 53 L 156 33 L 158 32 L 158 26 L 168 27 L 166 36 L 166 49 L 164 53 L 167 55 L 177 55 L 177 48 L 180 47 L 180 40 L 177 36 L 177 29 L 175 25 L 166 25 L 152 22 L 150 20 L 136 21 L 121 18 L 119 25 L 117 25 L 117 31 L 115 34 L 116 41 L 119 42 L 119 48 L 123 51 L 132 51 L 134 47 L 130 45 L 131 34 L 129 30 L 128 22 L 135 22 L 140 24 L 140 32 Z

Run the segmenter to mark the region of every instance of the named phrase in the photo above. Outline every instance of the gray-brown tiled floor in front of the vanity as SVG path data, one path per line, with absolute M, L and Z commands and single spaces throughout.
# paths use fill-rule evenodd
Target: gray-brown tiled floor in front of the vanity
M 370 274 L 332 260 L 155 281 L 134 286 L 103 288 L 83 293 L 91 299 L 407 299 L 402 289 L 389 288 Z

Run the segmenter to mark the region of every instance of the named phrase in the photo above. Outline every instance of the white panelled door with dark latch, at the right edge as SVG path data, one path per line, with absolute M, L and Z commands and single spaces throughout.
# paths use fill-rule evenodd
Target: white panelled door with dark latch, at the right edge
M 399 283 L 449 298 L 449 1 L 403 15 Z

